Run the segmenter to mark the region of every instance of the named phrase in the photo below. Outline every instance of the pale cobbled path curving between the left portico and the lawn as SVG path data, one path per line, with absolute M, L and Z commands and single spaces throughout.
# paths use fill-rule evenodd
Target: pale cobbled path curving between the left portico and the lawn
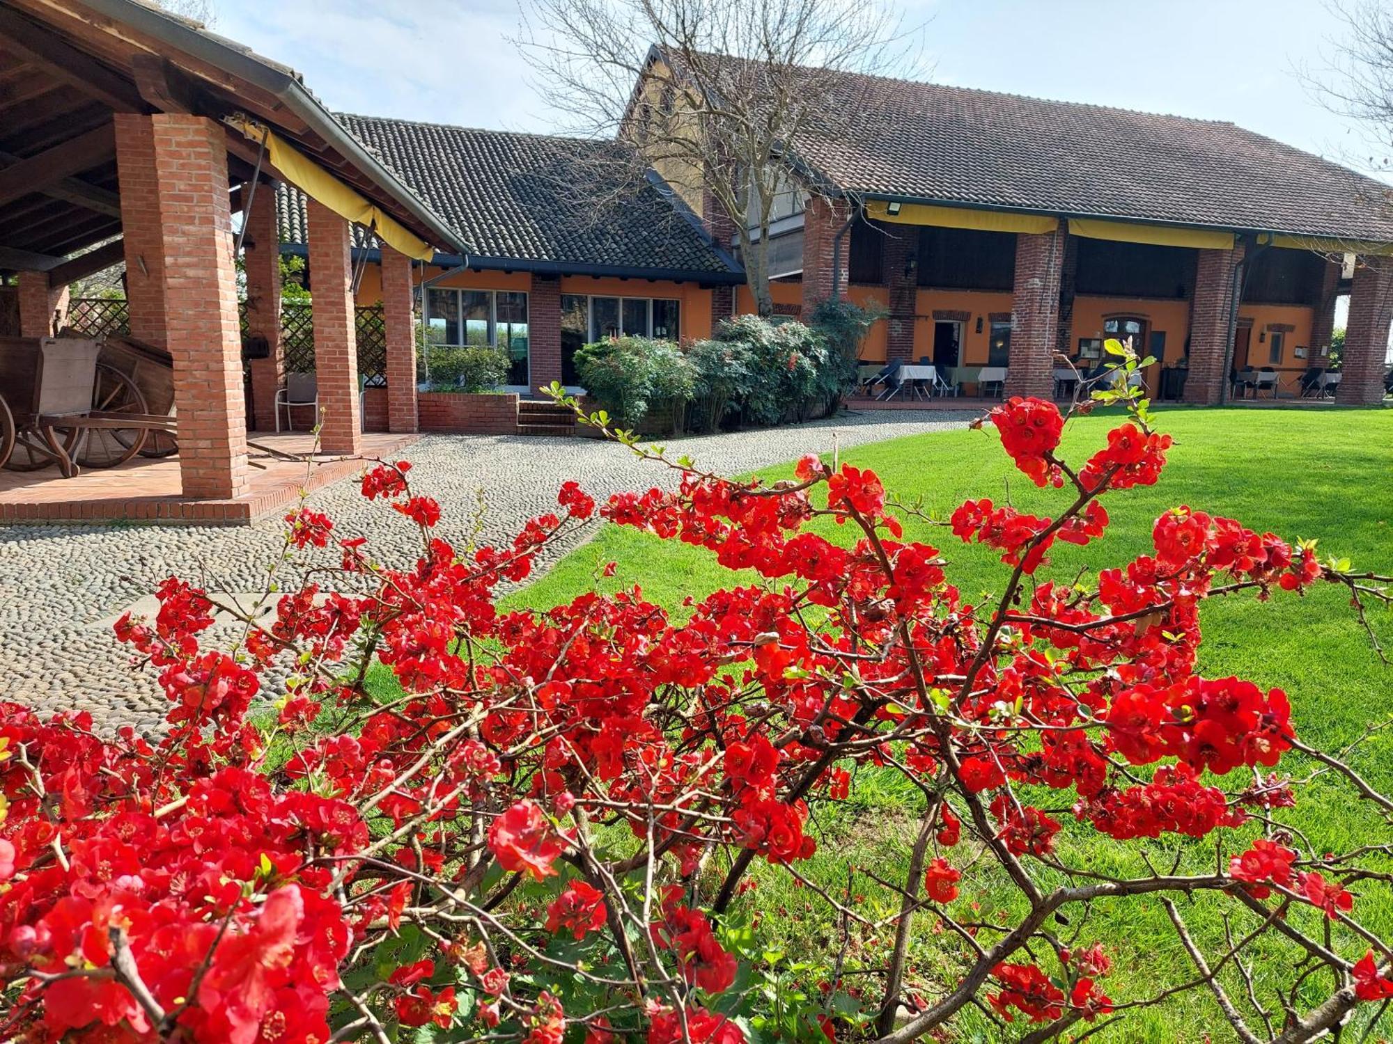
M 963 427 L 960 411 L 850 413 L 797 427 L 670 440 L 702 468 L 747 472 L 841 447 Z M 556 508 L 575 479 L 596 500 L 670 483 L 671 472 L 623 447 L 588 438 L 429 436 L 405 454 L 412 486 L 444 507 L 443 535 L 462 541 L 479 518 L 483 541 L 508 539 L 532 515 Z M 311 504 L 340 535 L 371 533 L 375 557 L 410 561 L 419 546 L 405 519 L 362 500 L 357 483 L 319 490 Z M 146 729 L 166 702 L 150 672 L 134 674 L 110 621 L 176 574 L 210 592 L 255 592 L 276 553 L 280 522 L 244 528 L 0 526 L 0 696 L 42 711 L 81 707 L 98 727 Z M 593 530 L 589 530 L 593 532 Z M 578 537 L 578 543 L 584 537 Z M 570 547 L 554 548 L 553 557 Z

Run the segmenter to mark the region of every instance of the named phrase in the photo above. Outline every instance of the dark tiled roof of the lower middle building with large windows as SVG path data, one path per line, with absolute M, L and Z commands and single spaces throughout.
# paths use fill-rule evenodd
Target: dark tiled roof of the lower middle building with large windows
M 676 196 L 651 182 L 625 187 L 617 142 L 336 118 L 460 232 L 471 258 L 688 277 L 738 271 Z M 283 242 L 305 242 L 294 189 L 281 191 L 280 223 Z

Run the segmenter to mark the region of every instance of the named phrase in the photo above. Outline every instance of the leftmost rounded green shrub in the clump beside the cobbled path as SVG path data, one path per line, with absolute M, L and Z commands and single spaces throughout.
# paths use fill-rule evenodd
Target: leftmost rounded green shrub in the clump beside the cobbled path
M 642 425 L 659 404 L 683 404 L 692 397 L 695 374 L 671 341 L 614 337 L 586 344 L 575 352 L 575 369 L 585 390 L 620 423 Z

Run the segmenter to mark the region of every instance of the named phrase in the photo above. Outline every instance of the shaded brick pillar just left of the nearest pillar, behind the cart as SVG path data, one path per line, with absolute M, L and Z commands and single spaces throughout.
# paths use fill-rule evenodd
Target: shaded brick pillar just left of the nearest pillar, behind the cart
M 155 125 L 132 113 L 117 113 L 114 121 L 131 337 L 163 348 L 164 237 L 155 173 Z

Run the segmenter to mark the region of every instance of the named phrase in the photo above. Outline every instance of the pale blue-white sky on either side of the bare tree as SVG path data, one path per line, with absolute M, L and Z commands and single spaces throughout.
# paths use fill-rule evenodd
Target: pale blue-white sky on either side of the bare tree
M 553 129 L 508 43 L 517 0 L 213 0 L 215 28 L 334 110 Z M 1233 120 L 1332 159 L 1367 152 L 1295 75 L 1340 24 L 1321 0 L 905 0 L 931 78 Z

